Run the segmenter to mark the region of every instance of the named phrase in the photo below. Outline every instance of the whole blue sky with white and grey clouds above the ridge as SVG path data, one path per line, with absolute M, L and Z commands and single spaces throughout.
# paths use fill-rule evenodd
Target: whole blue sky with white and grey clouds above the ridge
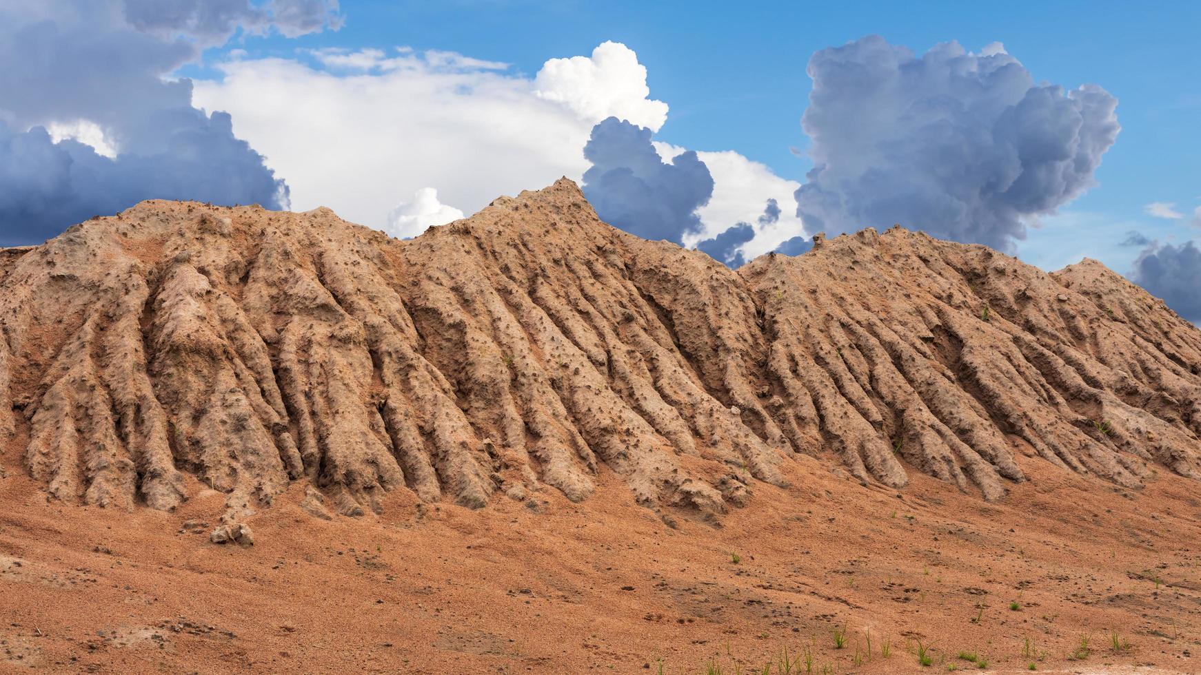
M 1044 269 L 1098 258 L 1165 297 L 1167 284 L 1155 270 L 1191 270 L 1196 251 L 1185 247 L 1201 236 L 1201 4 L 745 5 L 0 0 L 0 164 L 17 168 L 0 180 L 0 246 L 40 241 L 74 219 L 150 197 L 322 204 L 412 236 L 498 194 L 558 175 L 581 180 L 592 165 L 584 157 L 590 132 L 613 115 L 632 122 L 609 135 L 629 162 L 647 161 L 650 146 L 639 145 L 647 138 L 661 158 L 651 164 L 662 161 L 635 171 L 635 192 L 691 195 L 635 205 L 631 213 L 681 223 L 668 239 L 685 246 L 747 223 L 753 227 L 739 231 L 751 239 L 725 241 L 742 245 L 741 258 L 749 259 L 794 235 L 812 235 L 815 223 L 835 231 L 883 227 L 896 207 L 907 225 L 1008 248 Z M 938 47 L 950 41 L 963 52 Z M 1004 174 L 1016 159 L 979 140 L 1008 133 L 996 119 L 1020 96 L 1000 96 L 1005 103 L 990 108 L 990 88 L 997 94 L 1002 85 L 969 77 L 882 103 L 878 91 L 856 90 L 847 76 L 879 66 L 872 59 L 882 48 L 921 61 L 876 73 L 894 84 L 926 86 L 940 68 L 964 64 L 988 71 L 1000 52 L 1003 62 L 1022 68 L 1017 82 L 1026 78 L 1030 91 L 1098 85 L 1099 98 L 1076 101 L 1075 113 L 1052 109 L 1064 102 L 1060 92 L 1047 100 L 1052 108 L 1014 127 L 1027 147 L 1045 137 L 1048 149 L 1094 143 L 1095 151 L 1081 151 L 1066 168 L 1023 159 L 1030 175 L 1070 174 L 1066 185 L 998 197 L 990 186 L 1009 180 Z M 855 112 L 856 101 L 883 106 L 879 119 L 852 115 L 846 128 L 826 115 L 815 127 L 825 138 L 819 146 L 801 127 L 807 109 L 814 123 L 821 117 L 809 100 L 814 55 L 833 64 L 825 71 L 831 110 Z M 179 78 L 185 80 L 172 84 Z M 124 103 L 104 96 L 106 88 L 129 92 Z M 980 120 L 956 119 L 964 145 L 940 135 L 937 125 L 910 129 L 904 125 L 916 122 L 901 121 L 907 110 L 928 110 L 948 97 L 962 97 L 964 109 L 987 103 Z M 1105 112 L 1113 98 L 1116 141 L 1104 129 L 1064 131 L 1081 115 L 1115 122 Z M 861 132 L 854 125 L 867 126 Z M 41 127 L 48 135 L 38 135 Z M 865 144 L 876 158 L 856 165 Z M 44 161 L 31 162 L 30 147 Z M 890 155 L 901 147 L 913 156 Z M 711 181 L 674 168 L 692 165 L 686 151 L 698 152 Z M 811 151 L 825 157 L 815 179 L 807 177 Z M 978 155 L 980 165 L 973 164 Z M 610 152 L 607 162 L 620 174 L 627 159 Z M 28 167 L 59 173 L 24 175 Z M 980 170 L 982 177 L 969 176 L 975 183 L 954 180 Z M 693 179 L 699 182 L 680 182 Z M 633 199 L 633 192 L 611 192 L 617 182 L 602 188 L 597 181 L 585 186 L 594 201 Z M 800 199 L 802 185 L 808 201 Z M 940 191 L 955 203 L 940 203 Z M 831 198 L 841 205 L 831 206 Z M 767 212 L 778 216 L 765 218 Z M 609 219 L 626 227 L 616 213 Z M 1131 231 L 1139 236 L 1131 240 Z M 1151 259 L 1155 254 L 1164 264 Z

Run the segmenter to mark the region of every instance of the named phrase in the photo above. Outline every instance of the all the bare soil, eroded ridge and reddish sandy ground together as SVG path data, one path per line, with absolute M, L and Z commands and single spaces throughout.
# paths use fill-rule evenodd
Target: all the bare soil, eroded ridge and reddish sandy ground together
M 1093 261 L 148 201 L 0 338 L 5 667 L 1201 669 L 1201 332 Z

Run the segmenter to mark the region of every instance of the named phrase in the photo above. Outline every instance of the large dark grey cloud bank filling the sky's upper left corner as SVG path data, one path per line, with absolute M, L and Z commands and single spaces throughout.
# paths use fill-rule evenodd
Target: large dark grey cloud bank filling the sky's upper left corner
M 36 243 L 142 199 L 287 205 L 282 181 L 163 79 L 239 30 L 336 26 L 336 2 L 0 0 L 0 243 Z M 103 134 L 107 158 L 40 127 Z

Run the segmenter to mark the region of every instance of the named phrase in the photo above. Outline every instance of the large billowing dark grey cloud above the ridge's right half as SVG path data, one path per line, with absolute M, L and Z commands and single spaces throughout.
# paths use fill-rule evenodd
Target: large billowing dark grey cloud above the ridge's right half
M 814 167 L 796 200 L 809 231 L 901 223 L 1012 251 L 1026 219 L 1093 183 L 1121 128 L 1104 89 L 1035 84 L 998 44 L 918 58 L 868 36 L 815 53 L 808 74 Z

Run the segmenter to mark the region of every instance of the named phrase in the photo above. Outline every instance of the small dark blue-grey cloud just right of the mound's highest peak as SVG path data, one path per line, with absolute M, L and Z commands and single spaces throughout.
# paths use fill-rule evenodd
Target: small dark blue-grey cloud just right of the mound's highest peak
M 592 127 L 584 146 L 592 167 L 584 195 L 600 219 L 644 239 L 681 243 L 700 229 L 697 209 L 713 194 L 713 177 L 693 151 L 664 163 L 651 129 L 609 117 Z

